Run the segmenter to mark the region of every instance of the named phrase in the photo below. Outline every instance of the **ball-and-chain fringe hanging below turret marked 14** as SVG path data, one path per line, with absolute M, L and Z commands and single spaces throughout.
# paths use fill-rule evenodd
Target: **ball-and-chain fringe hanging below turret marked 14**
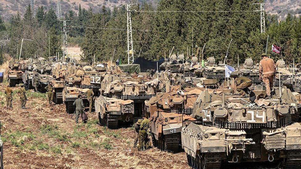
M 231 129 L 248 129 L 248 128 L 260 128 L 260 127 L 268 127 L 268 128 L 275 128 L 275 127 L 284 127 L 291 124 L 292 118 L 291 115 L 287 115 L 285 118 L 280 119 L 280 121 L 275 122 L 267 122 L 267 123 L 229 123 L 223 122 L 219 119 L 214 119 L 212 122 L 204 122 L 206 126 L 214 126 L 217 128 L 231 128 Z

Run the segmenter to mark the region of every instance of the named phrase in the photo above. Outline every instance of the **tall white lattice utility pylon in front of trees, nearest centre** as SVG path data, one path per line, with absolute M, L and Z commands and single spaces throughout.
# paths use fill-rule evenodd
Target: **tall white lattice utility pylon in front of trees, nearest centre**
M 131 5 L 136 5 L 135 3 L 127 3 L 127 4 L 120 4 L 126 5 L 127 11 L 127 55 L 128 64 L 134 62 L 134 50 L 133 50 L 133 34 L 132 34 L 132 19 L 131 19 Z

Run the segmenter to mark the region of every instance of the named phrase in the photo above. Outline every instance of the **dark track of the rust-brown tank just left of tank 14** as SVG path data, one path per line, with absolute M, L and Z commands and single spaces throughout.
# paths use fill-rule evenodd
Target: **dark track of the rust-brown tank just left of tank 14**
M 180 133 L 162 135 L 158 140 L 155 140 L 154 137 L 152 139 L 155 142 L 153 145 L 156 145 L 162 151 L 179 152 Z

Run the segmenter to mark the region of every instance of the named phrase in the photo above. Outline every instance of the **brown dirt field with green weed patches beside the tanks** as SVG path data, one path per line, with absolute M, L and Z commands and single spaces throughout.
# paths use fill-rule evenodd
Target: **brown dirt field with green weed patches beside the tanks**
M 186 169 L 184 152 L 172 154 L 152 148 L 133 148 L 133 127 L 109 130 L 98 124 L 94 113 L 88 123 L 75 124 L 65 105 L 49 106 L 45 94 L 27 91 L 27 107 L 20 108 L 14 91 L 13 109 L 6 108 L 0 84 L 1 138 L 7 169 Z M 14 87 L 17 90 L 17 87 Z M 251 166 L 251 167 L 249 167 Z M 265 166 L 265 167 L 263 167 Z M 222 168 L 274 168 L 277 164 L 223 165 Z

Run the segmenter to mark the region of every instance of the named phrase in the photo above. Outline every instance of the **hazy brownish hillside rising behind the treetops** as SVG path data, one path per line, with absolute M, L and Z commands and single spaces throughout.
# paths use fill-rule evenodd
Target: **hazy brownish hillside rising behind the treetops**
M 157 2 L 157 0 L 146 2 L 150 1 Z M 0 0 L 0 13 L 5 21 L 9 21 L 9 18 L 18 11 L 23 14 L 29 2 L 29 0 Z M 130 0 L 61 0 L 61 10 L 63 15 L 68 10 L 77 11 L 80 4 L 82 8 L 92 7 L 93 12 L 99 12 L 102 5 L 113 9 L 114 6 L 126 2 Z M 137 0 L 137 2 L 142 3 L 144 0 Z M 265 0 L 265 2 L 273 2 L 273 4 L 265 5 L 265 10 L 268 14 L 277 14 L 280 20 L 284 19 L 287 13 L 297 16 L 301 14 L 301 0 Z M 57 0 L 35 0 L 34 7 L 44 6 L 46 10 L 50 8 L 56 10 L 56 3 Z

